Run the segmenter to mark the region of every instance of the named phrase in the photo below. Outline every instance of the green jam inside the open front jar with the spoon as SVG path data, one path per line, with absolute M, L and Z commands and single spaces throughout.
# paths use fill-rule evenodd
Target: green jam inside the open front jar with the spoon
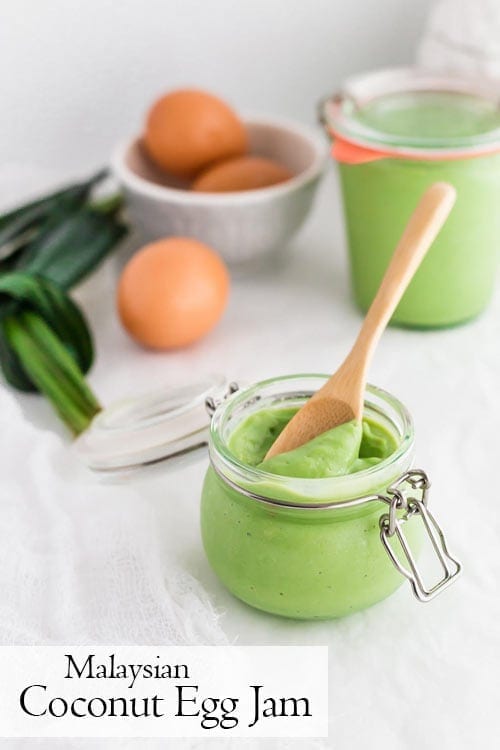
M 235 462 L 229 468 L 218 466 L 211 445 L 201 501 L 203 544 L 219 579 L 247 604 L 299 619 L 341 617 L 380 601 L 404 581 L 380 540 L 388 506 L 375 498 L 410 467 L 411 451 L 401 454 L 394 423 L 367 408 L 362 424 L 347 422 L 266 461 L 295 413 L 280 404 L 244 416 L 226 437 Z M 365 497 L 352 507 L 335 507 Z M 408 524 L 406 533 L 418 550 L 419 525 Z

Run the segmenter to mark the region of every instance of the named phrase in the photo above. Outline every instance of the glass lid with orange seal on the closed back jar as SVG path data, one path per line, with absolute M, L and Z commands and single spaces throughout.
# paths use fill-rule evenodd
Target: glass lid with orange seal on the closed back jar
M 500 150 L 498 92 L 484 80 L 418 68 L 375 71 L 348 79 L 322 103 L 320 117 L 335 140 L 367 151 L 356 159 L 346 150 L 340 161 L 368 161 L 371 154 L 458 159 Z

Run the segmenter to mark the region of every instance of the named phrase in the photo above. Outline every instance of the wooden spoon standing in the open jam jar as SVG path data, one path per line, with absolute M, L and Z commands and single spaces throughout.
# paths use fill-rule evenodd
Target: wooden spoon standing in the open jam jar
M 298 448 L 322 432 L 363 416 L 366 376 L 375 347 L 427 250 L 446 221 L 455 188 L 436 182 L 424 193 L 403 232 L 356 342 L 336 373 L 275 440 L 266 458 Z

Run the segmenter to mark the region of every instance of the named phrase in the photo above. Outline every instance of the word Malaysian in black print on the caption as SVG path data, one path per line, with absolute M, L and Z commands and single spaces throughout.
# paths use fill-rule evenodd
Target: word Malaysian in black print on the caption
M 89 654 L 85 661 L 78 664 L 71 654 L 65 654 L 67 672 L 64 677 L 86 680 L 128 680 L 127 687 L 132 689 L 137 678 L 187 680 L 190 677 L 187 664 L 120 664 L 114 654 L 110 654 L 105 663 L 96 662 L 95 654 Z

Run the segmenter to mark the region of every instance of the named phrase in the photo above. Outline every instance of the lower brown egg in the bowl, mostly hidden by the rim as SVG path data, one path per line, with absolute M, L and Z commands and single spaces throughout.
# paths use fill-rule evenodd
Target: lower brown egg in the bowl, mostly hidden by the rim
M 191 187 L 204 193 L 257 190 L 285 182 L 291 177 L 292 172 L 276 161 L 261 156 L 241 156 L 209 167 Z

